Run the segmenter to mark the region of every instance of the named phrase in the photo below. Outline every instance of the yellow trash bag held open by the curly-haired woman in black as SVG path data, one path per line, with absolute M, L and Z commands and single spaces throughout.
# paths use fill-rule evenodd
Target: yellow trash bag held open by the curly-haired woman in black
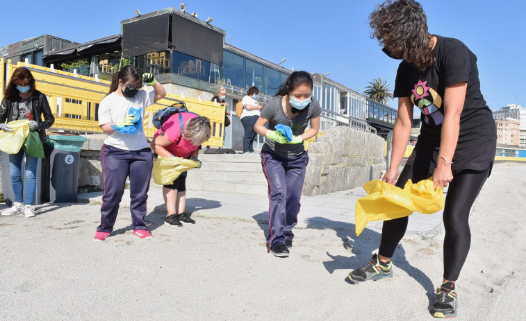
M 373 220 L 393 220 L 413 214 L 433 214 L 444 208 L 442 187 L 433 189 L 433 180 L 421 180 L 413 184 L 407 181 L 404 189 L 381 180 L 372 180 L 363 184 L 369 194 L 356 201 L 354 218 L 356 219 L 356 236 Z

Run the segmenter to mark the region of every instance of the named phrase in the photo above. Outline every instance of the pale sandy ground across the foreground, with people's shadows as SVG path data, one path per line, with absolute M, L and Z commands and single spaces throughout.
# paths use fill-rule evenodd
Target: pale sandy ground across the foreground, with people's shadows
M 526 166 L 495 166 L 470 218 L 457 320 L 523 319 L 525 198 Z M 151 240 L 131 234 L 122 209 L 112 236 L 94 242 L 99 209 L 42 205 L 36 218 L 0 217 L 1 320 L 435 320 L 441 225 L 406 234 L 393 279 L 352 286 L 347 273 L 379 243 L 368 228 L 356 238 L 354 221 L 295 229 L 290 257 L 279 259 L 256 221 L 169 227 L 161 212 L 147 215 Z

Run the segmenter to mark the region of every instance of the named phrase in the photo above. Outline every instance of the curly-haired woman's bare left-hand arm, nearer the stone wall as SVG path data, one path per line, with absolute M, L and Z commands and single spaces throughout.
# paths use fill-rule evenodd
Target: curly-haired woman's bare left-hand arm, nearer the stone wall
M 384 175 L 384 182 L 395 184 L 398 178 L 398 168 L 402 163 L 402 158 L 407 148 L 407 142 L 411 135 L 411 127 L 413 126 L 413 102 L 409 97 L 398 98 L 398 116 L 393 129 L 393 152 L 391 153 L 391 163 L 386 175 Z

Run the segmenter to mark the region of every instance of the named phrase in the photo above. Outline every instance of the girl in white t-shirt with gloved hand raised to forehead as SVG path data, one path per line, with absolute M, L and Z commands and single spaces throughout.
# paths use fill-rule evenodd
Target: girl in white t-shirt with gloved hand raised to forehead
M 154 87 L 154 91 L 142 90 L 143 81 Z M 145 107 L 164 96 L 166 91 L 163 85 L 157 83 L 151 73 L 141 77 L 139 71 L 129 65 L 113 74 L 110 91 L 99 106 L 99 126 L 108 137 L 101 148 L 104 195 L 101 225 L 97 227 L 94 241 L 104 241 L 113 231 L 126 177 L 130 177 L 133 234 L 151 238 L 145 216 L 153 155 L 140 122 L 144 118 Z

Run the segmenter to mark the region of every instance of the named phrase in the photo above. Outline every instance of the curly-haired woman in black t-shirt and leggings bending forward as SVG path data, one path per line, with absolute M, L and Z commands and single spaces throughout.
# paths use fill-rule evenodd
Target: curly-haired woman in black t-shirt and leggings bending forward
M 432 176 L 435 187 L 449 185 L 443 211 L 444 275 L 432 314 L 454 317 L 454 285 L 470 248 L 469 212 L 495 157 L 495 122 L 480 93 L 477 57 L 459 40 L 429 34 L 425 13 L 416 1 L 386 1 L 369 18 L 382 50 L 402 59 L 394 92 L 398 117 L 391 166 L 382 180 L 403 188 L 409 179 L 418 182 Z M 420 109 L 422 128 L 399 177 L 413 105 Z M 347 281 L 392 277 L 391 258 L 407 223 L 407 217 L 384 221 L 378 254 L 350 272 Z

